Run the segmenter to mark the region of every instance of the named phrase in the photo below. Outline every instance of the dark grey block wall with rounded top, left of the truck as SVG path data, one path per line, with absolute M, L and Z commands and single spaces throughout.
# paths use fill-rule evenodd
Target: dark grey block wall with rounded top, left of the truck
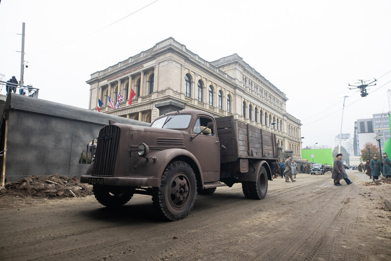
M 79 158 L 99 130 L 117 123 L 149 123 L 41 99 L 9 94 L 0 126 L 1 177 L 16 181 L 30 175 L 61 174 L 79 177 L 89 164 Z

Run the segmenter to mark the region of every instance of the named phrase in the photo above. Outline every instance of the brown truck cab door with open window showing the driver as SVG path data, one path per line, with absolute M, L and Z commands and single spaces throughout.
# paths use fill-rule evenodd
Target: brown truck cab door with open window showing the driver
M 193 137 L 203 130 L 191 142 L 191 152 L 200 163 L 204 183 L 215 182 L 220 179 L 220 143 L 215 130 L 206 128 L 211 118 L 199 116 L 193 128 Z

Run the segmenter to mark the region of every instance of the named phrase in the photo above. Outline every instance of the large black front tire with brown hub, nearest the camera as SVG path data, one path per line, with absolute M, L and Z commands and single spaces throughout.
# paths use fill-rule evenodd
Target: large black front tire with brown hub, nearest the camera
M 196 202 L 197 182 L 192 167 L 173 161 L 162 175 L 160 187 L 154 190 L 153 205 L 170 221 L 183 219 Z

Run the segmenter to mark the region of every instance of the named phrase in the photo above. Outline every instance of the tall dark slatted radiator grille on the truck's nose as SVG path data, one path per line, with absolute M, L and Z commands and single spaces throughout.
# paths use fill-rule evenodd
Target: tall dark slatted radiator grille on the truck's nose
M 97 152 L 92 171 L 94 176 L 113 176 L 120 128 L 107 125 L 99 131 Z

